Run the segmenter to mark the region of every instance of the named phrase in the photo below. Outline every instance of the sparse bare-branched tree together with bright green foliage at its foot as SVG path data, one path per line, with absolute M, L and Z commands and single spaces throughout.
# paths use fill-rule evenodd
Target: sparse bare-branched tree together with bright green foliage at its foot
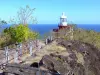
M 13 23 L 13 25 L 4 29 L 4 35 L 8 35 L 10 38 L 10 41 L 6 41 L 6 43 L 21 43 L 38 38 L 39 34 L 28 28 L 29 20 L 31 20 L 32 23 L 35 23 L 36 21 L 36 19 L 32 17 L 34 10 L 35 8 L 31 9 L 29 6 L 26 6 L 26 8 L 20 8 L 18 16 L 10 19 L 10 22 Z

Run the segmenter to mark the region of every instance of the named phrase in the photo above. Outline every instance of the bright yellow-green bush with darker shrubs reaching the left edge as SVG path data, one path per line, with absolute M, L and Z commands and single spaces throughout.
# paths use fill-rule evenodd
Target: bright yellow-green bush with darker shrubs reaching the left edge
M 23 43 L 29 40 L 34 40 L 38 37 L 38 33 L 31 31 L 28 28 L 28 25 L 16 25 L 10 26 L 9 28 L 4 29 L 0 35 L 0 46 L 9 46 L 16 43 Z

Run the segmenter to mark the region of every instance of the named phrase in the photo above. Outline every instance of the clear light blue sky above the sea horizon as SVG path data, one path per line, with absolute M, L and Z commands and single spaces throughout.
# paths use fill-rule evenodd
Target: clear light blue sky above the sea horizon
M 36 8 L 38 24 L 58 24 L 62 12 L 75 24 L 100 24 L 100 0 L 0 0 L 0 18 L 16 16 L 20 7 Z

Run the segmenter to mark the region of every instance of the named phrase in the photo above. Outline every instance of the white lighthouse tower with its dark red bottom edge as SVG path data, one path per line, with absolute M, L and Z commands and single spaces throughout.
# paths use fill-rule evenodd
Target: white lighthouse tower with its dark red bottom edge
M 67 27 L 67 17 L 65 16 L 64 12 L 62 13 L 60 17 L 60 23 L 58 26 L 59 26 L 59 29 Z

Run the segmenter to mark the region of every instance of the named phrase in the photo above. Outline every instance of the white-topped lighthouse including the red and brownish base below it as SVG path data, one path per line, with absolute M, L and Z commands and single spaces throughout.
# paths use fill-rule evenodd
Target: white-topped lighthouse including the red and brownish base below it
M 67 16 L 63 12 L 57 29 L 53 29 L 53 38 L 69 38 L 73 40 L 73 25 L 67 23 Z

